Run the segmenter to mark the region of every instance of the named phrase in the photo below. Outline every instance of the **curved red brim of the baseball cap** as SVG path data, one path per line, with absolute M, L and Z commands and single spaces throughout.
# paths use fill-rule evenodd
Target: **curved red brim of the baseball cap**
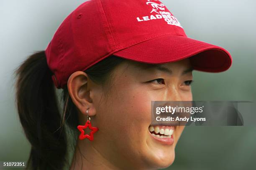
M 232 57 L 224 48 L 179 35 L 146 40 L 113 55 L 149 64 L 175 62 L 191 57 L 192 67 L 205 72 L 223 72 L 232 64 Z

